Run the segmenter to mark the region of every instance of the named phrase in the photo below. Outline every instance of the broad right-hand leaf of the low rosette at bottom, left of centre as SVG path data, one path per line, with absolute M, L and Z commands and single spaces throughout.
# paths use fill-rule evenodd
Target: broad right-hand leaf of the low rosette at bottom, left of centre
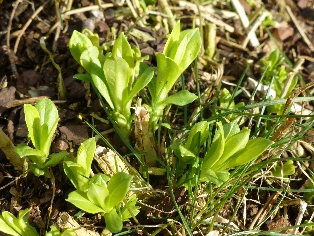
M 124 172 L 118 172 L 109 180 L 109 196 L 105 199 L 106 210 L 110 211 L 124 198 L 130 186 L 132 177 Z

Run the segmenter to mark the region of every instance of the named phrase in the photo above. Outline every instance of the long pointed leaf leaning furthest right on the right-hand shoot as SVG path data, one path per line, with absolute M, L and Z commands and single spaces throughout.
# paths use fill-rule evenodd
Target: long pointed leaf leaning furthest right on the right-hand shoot
M 231 156 L 220 169 L 244 165 L 260 156 L 274 142 L 265 138 L 255 138 L 248 141 L 245 149 Z

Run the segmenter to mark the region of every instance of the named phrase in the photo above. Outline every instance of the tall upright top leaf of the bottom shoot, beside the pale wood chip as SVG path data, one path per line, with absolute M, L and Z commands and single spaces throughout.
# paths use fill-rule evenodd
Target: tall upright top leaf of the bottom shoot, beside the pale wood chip
M 77 151 L 76 163 L 83 167 L 84 176 L 88 177 L 90 174 L 90 168 L 94 158 L 95 150 L 96 150 L 95 138 L 90 138 L 85 140 Z

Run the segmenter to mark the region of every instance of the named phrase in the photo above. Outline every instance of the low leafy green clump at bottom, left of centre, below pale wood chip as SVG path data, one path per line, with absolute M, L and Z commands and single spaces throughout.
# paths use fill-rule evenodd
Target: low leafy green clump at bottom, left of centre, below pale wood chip
M 69 194 L 67 201 L 83 211 L 101 213 L 108 230 L 116 233 L 121 231 L 123 221 L 132 217 L 132 214 L 139 213 L 139 207 L 135 206 L 135 195 L 121 205 L 126 198 L 132 177 L 118 172 L 112 178 L 105 174 L 96 174 L 90 178 L 95 149 L 95 138 L 90 138 L 79 147 L 75 162 L 70 158 L 64 161 L 64 172 L 77 189 Z

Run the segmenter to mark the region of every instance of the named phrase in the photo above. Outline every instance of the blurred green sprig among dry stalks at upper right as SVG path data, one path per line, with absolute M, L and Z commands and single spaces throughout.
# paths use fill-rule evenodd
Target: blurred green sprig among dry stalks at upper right
M 265 82 L 267 85 L 271 83 L 271 80 L 274 79 L 273 84 L 271 85 L 271 88 L 273 88 L 276 91 L 276 98 L 273 99 L 279 99 L 280 95 L 283 92 L 285 81 L 288 77 L 288 72 L 286 71 L 286 67 L 282 63 L 283 57 L 280 54 L 279 50 L 273 51 L 267 60 L 263 59 L 263 67 L 262 71 L 265 72 Z M 295 88 L 296 84 L 298 82 L 297 77 L 294 77 L 290 87 L 288 88 L 287 95 L 284 98 L 287 98 L 291 91 Z M 278 113 L 281 114 L 283 111 L 284 105 L 274 105 L 268 107 L 269 113 Z

